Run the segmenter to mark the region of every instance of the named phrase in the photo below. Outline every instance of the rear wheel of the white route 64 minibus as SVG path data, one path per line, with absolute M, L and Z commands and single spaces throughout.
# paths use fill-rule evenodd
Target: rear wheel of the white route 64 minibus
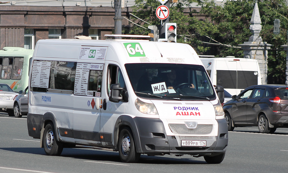
M 60 155 L 63 151 L 63 144 L 56 140 L 54 125 L 48 123 L 43 133 L 44 150 L 47 155 Z

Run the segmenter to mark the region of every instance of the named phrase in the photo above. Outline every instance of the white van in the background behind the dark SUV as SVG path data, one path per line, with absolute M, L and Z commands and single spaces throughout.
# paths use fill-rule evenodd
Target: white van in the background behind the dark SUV
M 200 58 L 213 85 L 238 95 L 248 86 L 261 85 L 258 61 L 249 58 Z

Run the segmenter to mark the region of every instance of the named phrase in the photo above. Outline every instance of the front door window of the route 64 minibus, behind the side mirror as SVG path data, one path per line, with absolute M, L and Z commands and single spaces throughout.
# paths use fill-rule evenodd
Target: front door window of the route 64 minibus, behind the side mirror
M 122 72 L 118 66 L 109 65 L 108 66 L 108 76 L 107 76 L 107 91 L 108 95 L 110 95 L 110 87 L 112 84 L 120 84 L 120 87 L 125 88 L 125 82 L 122 75 Z M 122 91 L 121 91 L 122 95 Z

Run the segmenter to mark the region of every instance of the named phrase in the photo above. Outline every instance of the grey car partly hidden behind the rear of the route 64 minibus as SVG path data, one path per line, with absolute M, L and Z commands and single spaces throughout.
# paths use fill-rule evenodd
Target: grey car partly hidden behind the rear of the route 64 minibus
M 24 90 L 19 91 L 19 95 L 14 101 L 14 116 L 21 118 L 23 115 L 28 114 L 28 86 Z

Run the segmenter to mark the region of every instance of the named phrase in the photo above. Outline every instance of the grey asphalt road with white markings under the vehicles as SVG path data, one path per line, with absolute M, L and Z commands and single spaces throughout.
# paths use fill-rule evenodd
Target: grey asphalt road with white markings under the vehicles
M 117 152 L 95 149 L 63 149 L 60 156 L 47 156 L 39 139 L 29 137 L 26 116 L 0 114 L 0 173 L 82 172 L 287 172 L 288 128 L 260 134 L 257 127 L 229 132 L 226 156 L 221 164 L 207 164 L 203 157 L 141 155 L 139 163 L 120 161 Z

